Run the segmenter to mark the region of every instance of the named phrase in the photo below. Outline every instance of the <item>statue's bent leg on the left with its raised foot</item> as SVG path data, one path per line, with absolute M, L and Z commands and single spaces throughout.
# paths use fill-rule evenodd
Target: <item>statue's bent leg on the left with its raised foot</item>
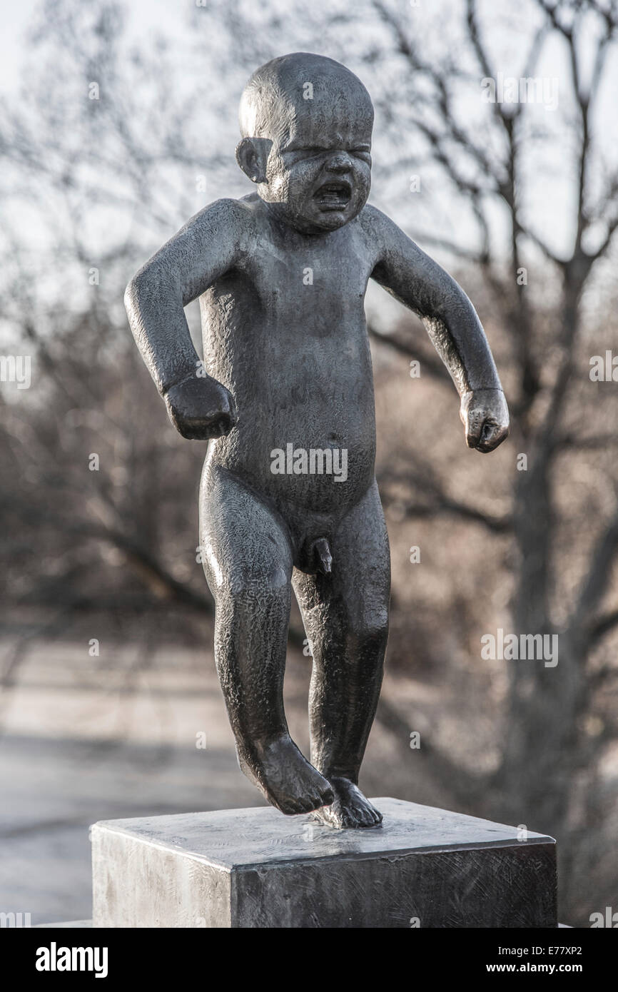
M 284 712 L 293 561 L 286 526 L 231 473 L 208 466 L 199 510 L 215 662 L 240 767 L 282 812 L 309 812 L 332 802 L 332 791 L 291 739 Z

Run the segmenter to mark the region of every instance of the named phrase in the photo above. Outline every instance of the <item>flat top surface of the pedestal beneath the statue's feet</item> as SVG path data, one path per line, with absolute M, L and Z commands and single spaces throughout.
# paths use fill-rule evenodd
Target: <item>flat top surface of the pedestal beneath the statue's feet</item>
M 517 827 L 447 809 L 386 798 L 371 802 L 384 813 L 384 822 L 365 829 L 333 830 L 310 814 L 284 816 L 270 806 L 103 820 L 94 829 L 130 834 L 230 871 L 307 859 L 554 843 L 552 837 L 531 831 L 523 840 Z

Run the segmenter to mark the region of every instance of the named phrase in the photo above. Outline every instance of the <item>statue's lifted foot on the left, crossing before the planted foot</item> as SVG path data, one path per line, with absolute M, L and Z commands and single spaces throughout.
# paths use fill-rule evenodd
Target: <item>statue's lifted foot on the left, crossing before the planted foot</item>
M 330 784 L 309 765 L 288 734 L 259 748 L 255 767 L 243 770 L 268 802 L 289 816 L 311 812 L 334 799 Z

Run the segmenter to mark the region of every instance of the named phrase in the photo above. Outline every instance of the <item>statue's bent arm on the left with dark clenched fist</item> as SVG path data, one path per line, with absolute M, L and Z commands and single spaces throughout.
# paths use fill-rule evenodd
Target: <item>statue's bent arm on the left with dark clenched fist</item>
M 216 200 L 153 255 L 125 293 L 133 336 L 174 426 L 185 437 L 227 434 L 235 424 L 229 392 L 204 374 L 185 307 L 236 264 L 245 226 L 241 204 Z

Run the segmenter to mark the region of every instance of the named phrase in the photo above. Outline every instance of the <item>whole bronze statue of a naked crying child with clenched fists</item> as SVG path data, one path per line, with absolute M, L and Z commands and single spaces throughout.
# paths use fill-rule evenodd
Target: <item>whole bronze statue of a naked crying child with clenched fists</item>
M 360 80 L 297 53 L 251 76 L 236 159 L 256 188 L 209 204 L 138 272 L 126 307 L 170 418 L 210 438 L 200 546 L 242 770 L 284 813 L 378 825 L 357 786 L 388 632 L 389 546 L 374 477 L 364 296 L 420 314 L 491 451 L 508 410 L 461 288 L 367 204 L 373 107 Z M 183 308 L 200 298 L 203 363 Z M 310 763 L 283 705 L 294 588 L 312 654 Z

